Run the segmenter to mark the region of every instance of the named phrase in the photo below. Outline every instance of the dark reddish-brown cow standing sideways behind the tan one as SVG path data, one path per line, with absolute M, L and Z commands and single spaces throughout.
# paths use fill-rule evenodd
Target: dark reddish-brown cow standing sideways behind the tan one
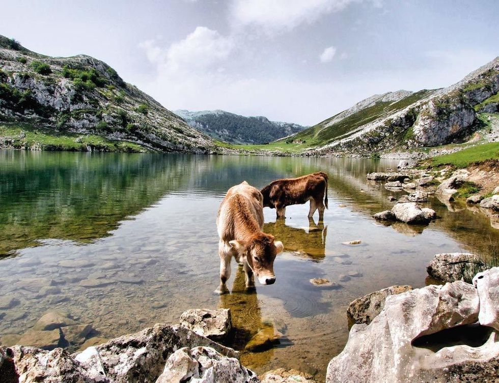
M 306 203 L 310 200 L 309 218 L 312 218 L 315 211 L 319 209 L 319 221 L 322 221 L 324 208 L 328 208 L 327 174 L 319 171 L 298 178 L 276 180 L 265 186 L 261 193 L 263 207 L 275 209 L 277 218 L 286 218 L 287 206 Z

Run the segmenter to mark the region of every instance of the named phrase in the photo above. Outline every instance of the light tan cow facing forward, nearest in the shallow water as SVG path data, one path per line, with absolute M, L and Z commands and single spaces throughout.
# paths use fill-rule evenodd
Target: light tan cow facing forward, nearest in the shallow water
M 220 204 L 216 217 L 218 255 L 220 256 L 220 286 L 216 292 L 228 291 L 231 260 L 243 264 L 246 287 L 254 286 L 253 274 L 263 285 L 275 282 L 274 259 L 283 251 L 280 241 L 266 234 L 263 228 L 263 196 L 246 181 L 233 186 Z

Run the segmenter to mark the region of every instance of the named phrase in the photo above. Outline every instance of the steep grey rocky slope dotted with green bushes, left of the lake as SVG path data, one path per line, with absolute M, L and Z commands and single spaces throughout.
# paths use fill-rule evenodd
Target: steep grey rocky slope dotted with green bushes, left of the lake
M 209 136 L 126 83 L 104 62 L 87 55 L 44 56 L 3 36 L 0 36 L 0 121 L 4 127 L 0 130 L 3 136 L 0 146 L 4 147 L 112 150 L 120 148 L 116 142 L 129 141 L 135 143 L 135 148 L 147 151 L 221 150 Z M 8 135 L 12 135 L 9 128 L 19 124 L 33 133 L 29 141 L 25 130 L 18 137 Z M 59 143 L 44 146 L 36 140 L 37 134 L 44 138 L 64 135 L 69 141 L 76 137 L 76 143 L 73 140 L 69 146 L 58 146 Z M 85 141 L 88 135 L 96 136 L 102 144 L 97 148 L 89 148 L 88 144 L 78 148 L 77 142 Z M 113 142 L 115 146 L 109 146 Z

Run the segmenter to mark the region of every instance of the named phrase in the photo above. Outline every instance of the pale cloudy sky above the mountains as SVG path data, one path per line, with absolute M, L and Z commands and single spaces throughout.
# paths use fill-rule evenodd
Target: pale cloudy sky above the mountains
M 169 109 L 303 125 L 499 55 L 496 0 L 2 0 L 2 13 L 0 34 L 95 56 Z

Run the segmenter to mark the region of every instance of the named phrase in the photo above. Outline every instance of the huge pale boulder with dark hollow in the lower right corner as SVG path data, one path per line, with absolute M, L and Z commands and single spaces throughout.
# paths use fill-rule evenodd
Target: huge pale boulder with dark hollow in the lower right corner
M 369 325 L 353 325 L 344 350 L 329 362 L 326 383 L 493 381 L 499 377 L 496 331 L 487 330 L 479 346 L 416 346 L 420 337 L 441 340 L 441 330 L 475 323 L 480 306 L 477 289 L 463 281 L 389 296 Z

